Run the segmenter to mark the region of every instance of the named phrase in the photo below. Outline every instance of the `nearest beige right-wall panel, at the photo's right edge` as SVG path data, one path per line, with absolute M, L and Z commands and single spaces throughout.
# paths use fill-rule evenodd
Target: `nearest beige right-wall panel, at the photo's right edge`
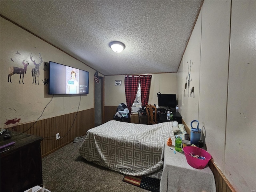
M 256 1 L 232 1 L 225 174 L 256 190 Z M 232 162 L 232 163 L 230 163 Z

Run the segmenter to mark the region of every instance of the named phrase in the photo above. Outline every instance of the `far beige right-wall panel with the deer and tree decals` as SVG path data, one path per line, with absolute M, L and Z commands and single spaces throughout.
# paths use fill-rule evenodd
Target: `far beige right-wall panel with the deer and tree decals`
M 198 120 L 199 102 L 199 76 L 200 76 L 200 46 L 201 46 L 201 15 L 194 26 L 186 52 L 182 58 L 180 68 L 182 68 L 182 118 L 187 122 Z M 179 82 L 179 81 L 178 81 Z M 185 89 L 185 84 L 186 89 Z M 192 92 L 194 88 L 194 93 Z M 196 124 L 194 125 L 196 126 Z

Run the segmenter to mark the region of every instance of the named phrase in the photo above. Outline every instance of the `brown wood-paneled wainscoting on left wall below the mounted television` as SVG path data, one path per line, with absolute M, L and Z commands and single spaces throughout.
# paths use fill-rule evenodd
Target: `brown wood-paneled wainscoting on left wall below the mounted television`
M 42 136 L 42 157 L 73 142 L 75 137 L 84 136 L 87 130 L 94 127 L 94 108 L 38 120 L 12 127 L 12 130 L 35 136 Z M 60 139 L 56 140 L 56 133 Z

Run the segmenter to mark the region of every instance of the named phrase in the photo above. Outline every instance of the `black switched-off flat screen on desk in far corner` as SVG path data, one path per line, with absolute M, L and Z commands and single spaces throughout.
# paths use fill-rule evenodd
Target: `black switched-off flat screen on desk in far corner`
M 157 93 L 159 108 L 174 109 L 177 105 L 176 94 Z

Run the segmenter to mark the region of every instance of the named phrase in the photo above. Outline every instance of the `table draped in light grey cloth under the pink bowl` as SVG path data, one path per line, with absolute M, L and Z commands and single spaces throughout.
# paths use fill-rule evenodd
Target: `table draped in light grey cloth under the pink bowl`
M 174 151 L 173 145 L 169 147 L 165 144 L 160 192 L 216 192 L 214 175 L 208 165 L 204 169 L 193 168 L 184 152 L 174 154 Z

